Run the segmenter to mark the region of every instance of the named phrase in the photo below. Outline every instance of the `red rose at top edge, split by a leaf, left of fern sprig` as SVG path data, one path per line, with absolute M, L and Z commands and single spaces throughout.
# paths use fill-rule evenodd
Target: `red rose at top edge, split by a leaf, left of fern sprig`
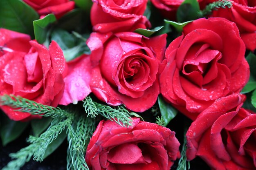
M 198 0 L 201 9 L 214 0 Z M 177 9 L 184 0 L 151 0 L 152 4 L 159 9 L 159 12 L 169 20 L 176 21 Z

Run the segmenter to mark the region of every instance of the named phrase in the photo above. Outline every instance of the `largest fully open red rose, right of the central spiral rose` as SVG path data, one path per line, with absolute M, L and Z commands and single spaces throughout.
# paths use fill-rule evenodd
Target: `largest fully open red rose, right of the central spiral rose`
M 249 80 L 245 44 L 236 24 L 224 18 L 187 24 L 165 57 L 161 93 L 192 120 L 216 99 L 239 93 Z

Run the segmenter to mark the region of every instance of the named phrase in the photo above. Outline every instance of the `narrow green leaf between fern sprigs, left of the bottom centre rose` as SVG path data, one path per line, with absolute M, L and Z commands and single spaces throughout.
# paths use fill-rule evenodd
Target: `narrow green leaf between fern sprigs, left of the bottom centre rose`
M 54 150 L 56 150 L 63 143 L 66 137 L 67 137 L 67 133 L 65 130 L 63 130 L 58 135 L 58 137 L 54 141 L 52 141 L 51 144 L 48 145 L 47 149 L 45 150 L 45 155 L 43 156 L 43 159 L 51 155 L 52 152 L 54 152 Z

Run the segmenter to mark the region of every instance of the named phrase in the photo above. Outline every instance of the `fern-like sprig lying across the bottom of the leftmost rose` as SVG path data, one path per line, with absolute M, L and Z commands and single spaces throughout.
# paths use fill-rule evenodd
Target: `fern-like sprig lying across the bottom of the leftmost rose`
M 40 115 L 44 117 L 68 117 L 67 113 L 61 108 L 36 103 L 20 96 L 4 95 L 0 97 L 0 105 L 18 108 L 15 111 L 27 112 L 32 115 Z M 43 115 L 42 115 L 43 114 Z

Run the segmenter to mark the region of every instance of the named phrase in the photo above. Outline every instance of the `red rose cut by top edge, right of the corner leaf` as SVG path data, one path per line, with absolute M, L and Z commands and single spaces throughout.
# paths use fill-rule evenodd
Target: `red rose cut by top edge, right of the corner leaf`
M 69 0 L 23 0 L 29 6 L 34 8 L 40 18 L 49 13 L 53 13 L 56 18 L 61 18 L 65 13 L 71 11 L 75 7 L 74 1 Z

